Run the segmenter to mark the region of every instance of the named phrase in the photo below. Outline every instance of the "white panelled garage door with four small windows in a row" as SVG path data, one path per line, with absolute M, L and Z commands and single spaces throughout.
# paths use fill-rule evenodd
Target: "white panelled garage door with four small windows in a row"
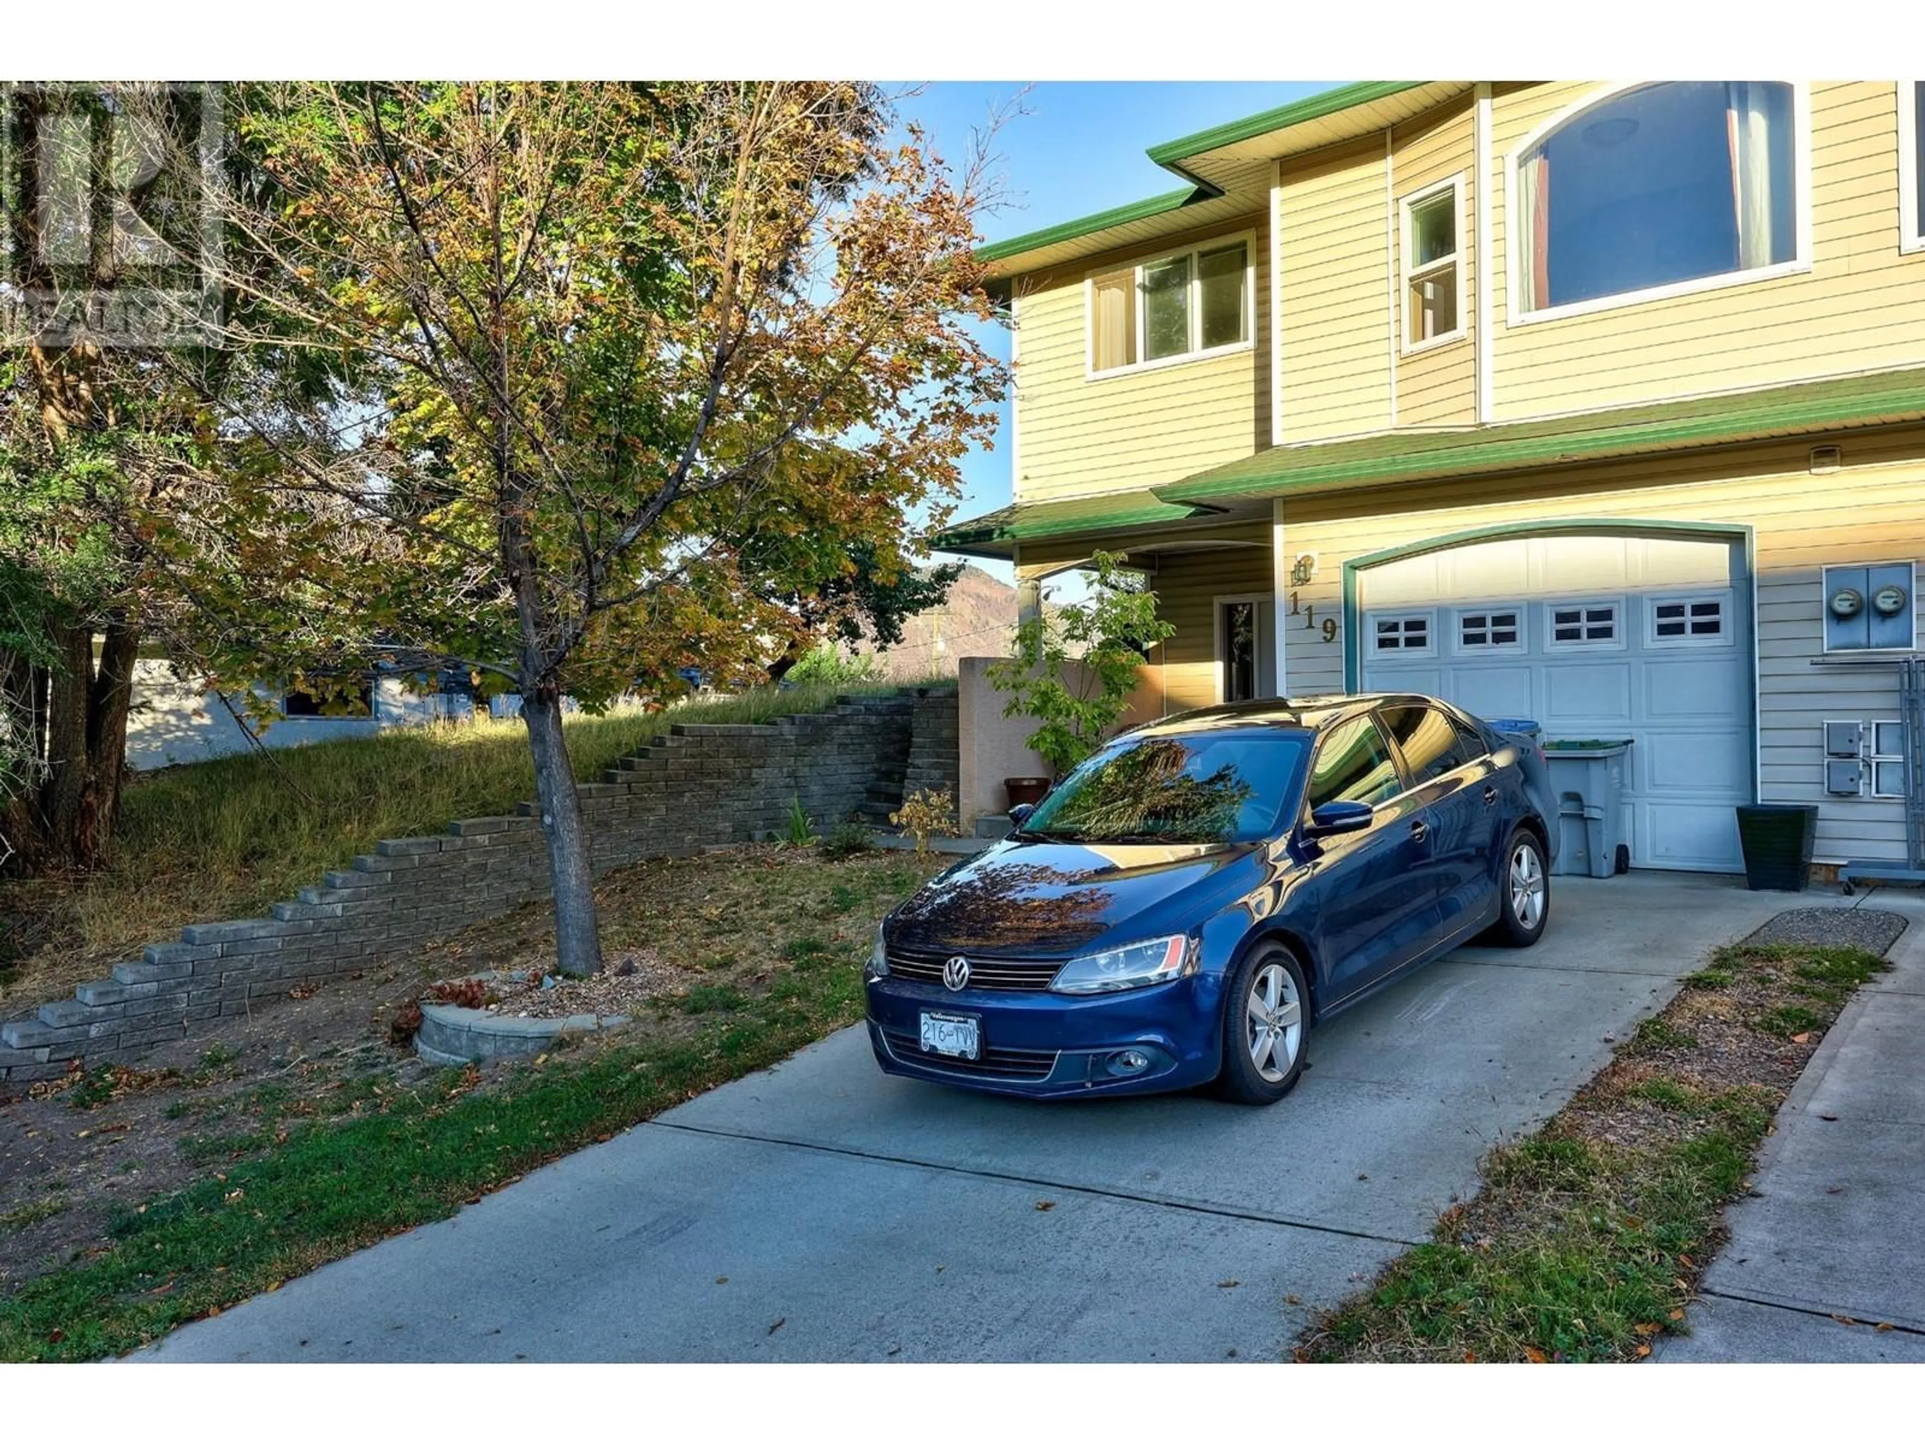
M 1484 541 L 1359 572 L 1369 691 L 1423 691 L 1546 739 L 1632 737 L 1636 866 L 1742 870 L 1752 801 L 1752 605 L 1725 537 Z

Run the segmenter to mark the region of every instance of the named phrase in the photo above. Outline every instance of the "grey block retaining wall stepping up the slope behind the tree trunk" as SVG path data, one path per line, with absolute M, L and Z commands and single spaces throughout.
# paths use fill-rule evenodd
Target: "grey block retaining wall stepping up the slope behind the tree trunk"
M 782 828 L 801 797 L 818 826 L 853 816 L 878 780 L 901 786 L 916 699 L 845 697 L 768 724 L 681 724 L 583 784 L 595 870 L 699 853 Z M 71 999 L 0 1024 L 0 1084 L 137 1057 L 194 1024 L 248 1013 L 302 982 L 364 968 L 549 891 L 537 807 L 393 838 L 275 903 L 264 918 L 196 922 Z

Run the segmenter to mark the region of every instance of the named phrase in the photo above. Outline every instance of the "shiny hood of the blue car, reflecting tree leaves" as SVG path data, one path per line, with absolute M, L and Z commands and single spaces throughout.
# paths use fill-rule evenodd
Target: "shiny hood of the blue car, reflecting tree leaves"
M 1184 932 L 1249 890 L 1261 843 L 1011 838 L 930 880 L 889 918 L 893 947 L 1063 955 Z

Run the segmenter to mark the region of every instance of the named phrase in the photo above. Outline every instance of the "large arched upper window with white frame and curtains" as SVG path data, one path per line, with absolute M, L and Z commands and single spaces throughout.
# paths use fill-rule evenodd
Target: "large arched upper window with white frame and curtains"
M 1798 260 L 1783 81 L 1619 90 L 1519 154 L 1519 312 Z

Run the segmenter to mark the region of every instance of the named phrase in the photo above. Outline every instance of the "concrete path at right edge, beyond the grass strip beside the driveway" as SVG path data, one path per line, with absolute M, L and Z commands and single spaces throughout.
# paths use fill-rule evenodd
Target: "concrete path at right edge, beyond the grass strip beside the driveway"
M 1779 1109 L 1663 1363 L 1925 1363 L 1925 893 L 1860 905 L 1906 916 L 1894 970 L 1846 1003 Z

